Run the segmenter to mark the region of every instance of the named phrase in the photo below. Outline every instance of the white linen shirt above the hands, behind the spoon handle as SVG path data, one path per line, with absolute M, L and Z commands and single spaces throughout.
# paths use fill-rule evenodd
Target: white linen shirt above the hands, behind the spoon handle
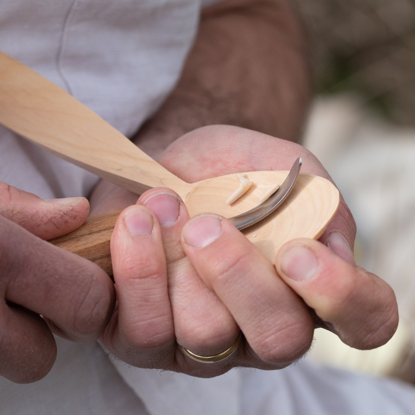
M 178 80 L 199 12 L 200 0 L 1 0 L 0 50 L 131 137 Z M 89 194 L 96 176 L 0 128 L 2 181 L 42 198 Z

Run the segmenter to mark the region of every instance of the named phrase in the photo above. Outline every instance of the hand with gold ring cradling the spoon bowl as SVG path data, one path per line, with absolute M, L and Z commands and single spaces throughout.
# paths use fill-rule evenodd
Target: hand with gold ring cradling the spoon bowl
M 186 181 L 249 170 L 303 171 L 329 178 L 303 147 L 261 133 L 211 126 L 186 134 L 159 160 Z M 234 366 L 278 369 L 310 347 L 315 327 L 352 347 L 388 341 L 398 322 L 391 288 L 357 267 L 355 224 L 342 200 L 320 241 L 286 244 L 276 269 L 244 235 L 216 215 L 190 219 L 169 189 L 144 193 L 120 216 L 112 238 L 117 312 L 102 338 L 115 356 L 139 367 L 215 376 Z M 328 246 L 326 246 L 328 245 Z M 229 347 L 230 358 L 204 365 L 184 356 Z

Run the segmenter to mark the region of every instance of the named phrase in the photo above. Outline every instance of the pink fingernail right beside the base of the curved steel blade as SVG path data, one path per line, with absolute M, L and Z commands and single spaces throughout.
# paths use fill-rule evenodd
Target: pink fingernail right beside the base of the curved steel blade
M 216 215 L 203 215 L 190 221 L 184 230 L 186 244 L 195 248 L 207 247 L 222 232 L 221 219 Z

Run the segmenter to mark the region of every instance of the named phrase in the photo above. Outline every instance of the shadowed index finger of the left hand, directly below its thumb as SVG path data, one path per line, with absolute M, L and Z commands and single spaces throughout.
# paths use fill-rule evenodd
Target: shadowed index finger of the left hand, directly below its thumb
M 4 217 L 0 217 L 0 232 L 2 298 L 51 320 L 62 337 L 97 339 L 115 299 L 105 272 Z

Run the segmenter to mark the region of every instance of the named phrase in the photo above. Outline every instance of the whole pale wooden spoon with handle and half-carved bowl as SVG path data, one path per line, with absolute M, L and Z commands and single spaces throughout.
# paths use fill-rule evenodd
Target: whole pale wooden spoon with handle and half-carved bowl
M 227 205 L 226 200 L 240 185 L 237 174 L 186 183 L 95 112 L 2 52 L 0 123 L 133 193 L 140 194 L 152 187 L 171 188 L 181 196 L 190 216 L 203 212 L 224 217 L 239 215 L 257 206 L 264 193 L 276 183 L 281 185 L 288 174 L 288 171 L 242 173 L 253 184 L 242 197 Z M 288 240 L 318 238 L 338 205 L 339 192 L 330 181 L 300 174 L 283 205 L 243 232 L 273 262 L 278 249 Z

